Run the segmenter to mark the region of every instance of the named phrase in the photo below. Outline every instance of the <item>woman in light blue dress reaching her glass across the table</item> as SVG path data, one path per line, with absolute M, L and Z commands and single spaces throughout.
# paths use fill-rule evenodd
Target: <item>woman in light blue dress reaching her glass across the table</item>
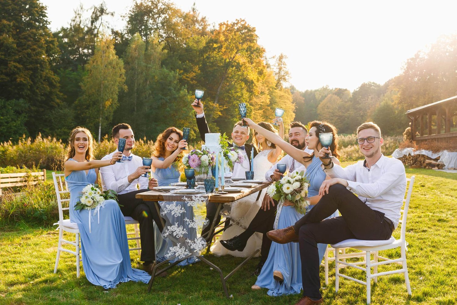
M 300 163 L 306 166 L 306 177 L 309 181 L 308 199 L 311 203 L 308 210 L 312 209 L 321 198 L 321 196 L 319 196 L 319 188 L 327 177 L 323 171 L 322 161 L 317 157 L 319 149 L 322 148 L 319 141 L 319 132 L 331 132 L 333 134 L 333 139 L 335 140 L 330 145 L 330 151 L 334 156 L 338 157 L 338 136 L 336 134 L 336 128 L 325 122 L 313 121 L 309 123 L 310 129 L 305 141 L 308 148 L 314 150 L 314 154 L 309 155 L 307 152 L 293 147 L 280 137 L 261 128 L 252 122 L 252 120 L 244 120 L 251 128 L 255 129 L 256 132 L 270 139 L 271 142 L 281 147 L 282 150 L 293 159 L 300 161 Z M 340 163 L 336 158 L 333 159 L 333 161 L 337 164 Z M 338 211 L 329 216 L 329 218 L 336 216 L 339 216 Z M 292 203 L 284 203 L 282 207 L 278 207 L 277 209 L 273 227 L 274 229 L 287 228 L 288 226 L 295 224 L 295 222 L 302 217 L 303 215 L 297 212 Z M 320 261 L 322 261 L 322 258 L 324 257 L 327 246 L 328 245 L 326 244 L 318 244 Z M 267 288 L 268 295 L 279 296 L 299 294 L 302 287 L 302 267 L 298 243 L 291 242 L 287 244 L 278 244 L 273 241 L 270 252 L 268 253 L 268 258 L 262 267 L 255 285 L 252 286 L 252 289 Z

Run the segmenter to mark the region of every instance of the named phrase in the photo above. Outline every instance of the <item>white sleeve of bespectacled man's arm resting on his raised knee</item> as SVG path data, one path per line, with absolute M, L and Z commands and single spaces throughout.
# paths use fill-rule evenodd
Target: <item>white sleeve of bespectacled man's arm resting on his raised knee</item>
M 347 180 L 347 188 L 359 196 L 366 198 L 377 198 L 392 187 L 402 183 L 405 179 L 404 167 L 398 164 L 392 164 L 386 169 L 386 172 L 373 183 L 361 183 Z

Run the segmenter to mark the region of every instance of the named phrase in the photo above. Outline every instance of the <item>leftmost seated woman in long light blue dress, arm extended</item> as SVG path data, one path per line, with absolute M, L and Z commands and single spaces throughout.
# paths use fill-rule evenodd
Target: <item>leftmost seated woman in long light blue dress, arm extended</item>
M 90 283 L 104 289 L 115 288 L 118 283 L 128 281 L 148 283 L 151 278 L 148 273 L 132 268 L 125 220 L 115 200 L 106 200 L 95 216 L 94 209 L 74 210 L 82 189 L 98 180 L 98 168 L 121 159 L 122 152 L 114 154 L 111 160 L 91 160 L 91 144 L 89 130 L 74 128 L 70 133 L 64 166 L 70 191 L 70 221 L 76 223 L 80 230 L 85 276 Z

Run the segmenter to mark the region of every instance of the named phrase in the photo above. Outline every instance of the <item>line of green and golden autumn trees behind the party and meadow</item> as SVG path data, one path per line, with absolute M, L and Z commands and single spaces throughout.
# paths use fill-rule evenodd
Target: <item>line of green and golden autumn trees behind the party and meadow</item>
M 243 19 L 213 26 L 195 5 L 182 11 L 168 0 L 136 0 L 122 29 L 107 25 L 114 12 L 105 2 L 80 5 L 55 32 L 38 0 L 4 0 L 0 11 L 2 142 L 39 132 L 66 139 L 77 125 L 100 138 L 120 122 L 139 138 L 174 125 L 190 127 L 190 140 L 198 140 L 195 89 L 205 91 L 212 131 L 231 130 L 246 102 L 255 121 L 270 122 L 281 107 L 286 124 L 320 119 L 353 133 L 373 120 L 386 134 L 401 134 L 407 109 L 455 95 L 457 36 L 418 52 L 383 85 L 302 92 L 287 86 L 286 55 L 266 58 L 255 27 Z

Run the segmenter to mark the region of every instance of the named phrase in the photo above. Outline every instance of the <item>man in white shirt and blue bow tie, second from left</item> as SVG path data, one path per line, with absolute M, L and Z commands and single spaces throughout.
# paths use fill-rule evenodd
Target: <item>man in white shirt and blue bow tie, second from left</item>
M 140 226 L 141 240 L 141 261 L 143 270 L 151 273 L 155 263 L 154 246 L 154 223 L 159 230 L 162 230 L 159 215 L 154 208 L 154 204 L 135 198 L 137 193 L 146 192 L 156 187 L 157 180 L 141 175 L 149 172 L 149 166 L 143 166 L 141 157 L 134 155 L 131 150 L 135 146 L 135 137 L 129 124 L 120 123 L 112 128 L 112 137 L 116 145 L 120 138 L 126 139 L 125 148 L 122 155 L 123 163 L 116 163 L 113 166 L 100 168 L 101 186 L 103 190 L 112 189 L 117 192 L 117 199 L 122 206 L 121 211 L 124 216 L 130 216 L 138 220 Z M 101 160 L 109 160 L 111 154 L 104 156 Z

